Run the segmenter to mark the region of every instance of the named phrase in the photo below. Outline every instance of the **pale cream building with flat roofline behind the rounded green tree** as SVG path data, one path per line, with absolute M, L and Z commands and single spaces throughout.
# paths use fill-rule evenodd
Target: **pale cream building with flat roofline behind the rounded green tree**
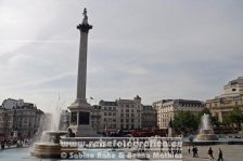
M 153 107 L 157 110 L 157 126 L 167 129 L 169 121 L 174 120 L 175 115 L 180 110 L 189 110 L 191 112 L 200 112 L 205 107 L 201 100 L 190 99 L 163 99 L 153 103 Z

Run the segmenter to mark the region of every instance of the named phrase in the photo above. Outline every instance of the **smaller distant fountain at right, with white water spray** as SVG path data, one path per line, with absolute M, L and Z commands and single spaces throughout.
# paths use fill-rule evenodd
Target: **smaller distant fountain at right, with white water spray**
M 200 133 L 196 135 L 199 140 L 217 140 L 218 135 L 214 133 L 210 125 L 209 115 L 204 113 L 201 118 Z

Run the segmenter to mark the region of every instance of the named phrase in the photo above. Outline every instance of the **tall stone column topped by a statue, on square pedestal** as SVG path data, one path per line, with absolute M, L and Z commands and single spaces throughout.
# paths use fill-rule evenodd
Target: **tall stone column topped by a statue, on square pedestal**
M 92 25 L 88 24 L 87 10 L 84 10 L 82 23 L 77 26 L 80 30 L 79 61 L 78 61 L 78 80 L 77 80 L 77 98 L 68 107 L 71 110 L 69 129 L 76 136 L 87 137 L 95 136 L 97 132 L 91 125 L 92 106 L 86 100 L 86 77 L 87 77 L 87 46 L 88 32 Z

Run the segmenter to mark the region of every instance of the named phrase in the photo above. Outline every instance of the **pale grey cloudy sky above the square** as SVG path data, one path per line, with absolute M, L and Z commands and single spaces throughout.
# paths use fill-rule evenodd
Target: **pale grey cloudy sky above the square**
M 87 97 L 205 100 L 242 76 L 241 0 L 0 0 L 0 102 L 48 111 L 76 97 L 84 8 Z M 65 107 L 64 107 L 65 108 Z

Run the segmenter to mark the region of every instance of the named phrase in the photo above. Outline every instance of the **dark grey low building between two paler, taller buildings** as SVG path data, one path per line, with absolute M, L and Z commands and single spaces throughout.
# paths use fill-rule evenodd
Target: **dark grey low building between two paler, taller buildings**
M 157 112 L 152 106 L 142 106 L 142 130 L 157 129 Z

